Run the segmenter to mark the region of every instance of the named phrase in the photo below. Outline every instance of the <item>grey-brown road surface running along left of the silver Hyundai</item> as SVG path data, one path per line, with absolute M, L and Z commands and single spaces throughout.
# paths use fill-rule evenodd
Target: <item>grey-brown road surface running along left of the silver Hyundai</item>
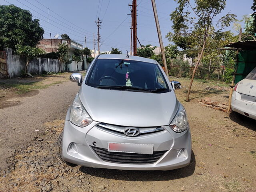
M 44 132 L 44 122 L 63 119 L 79 86 L 70 81 L 34 90 L 9 102 L 19 103 L 0 109 L 0 169 L 15 150 L 26 147 Z M 35 130 L 39 130 L 36 132 Z

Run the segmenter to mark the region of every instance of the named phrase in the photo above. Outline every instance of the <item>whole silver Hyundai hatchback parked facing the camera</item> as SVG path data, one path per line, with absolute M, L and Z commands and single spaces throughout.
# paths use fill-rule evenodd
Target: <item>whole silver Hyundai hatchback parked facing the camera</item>
M 191 159 L 186 110 L 160 65 L 104 54 L 91 63 L 68 109 L 57 152 L 68 164 L 120 170 L 171 170 Z

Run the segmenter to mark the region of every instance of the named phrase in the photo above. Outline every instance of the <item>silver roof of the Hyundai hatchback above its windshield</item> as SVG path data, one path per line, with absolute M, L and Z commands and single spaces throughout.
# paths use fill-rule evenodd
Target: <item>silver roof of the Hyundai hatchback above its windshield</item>
M 126 59 L 126 60 L 135 60 L 135 61 L 142 61 L 142 62 L 148 62 L 148 63 L 154 63 L 156 62 L 153 59 L 148 59 L 144 57 L 138 57 L 138 56 L 132 56 L 129 55 L 129 58 L 126 57 L 125 54 L 102 54 L 98 58 L 100 59 Z

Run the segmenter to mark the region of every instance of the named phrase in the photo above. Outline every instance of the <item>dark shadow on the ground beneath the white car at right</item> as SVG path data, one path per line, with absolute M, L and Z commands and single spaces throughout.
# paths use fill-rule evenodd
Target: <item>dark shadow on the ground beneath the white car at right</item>
M 256 126 L 255 126 L 256 120 L 254 120 L 252 118 L 246 117 L 246 116 L 244 116 L 242 114 L 239 114 L 237 112 L 230 113 L 229 118 L 232 121 L 234 121 L 234 122 L 236 122 L 236 123 L 238 123 L 238 124 L 248 128 L 248 129 L 256 131 Z

